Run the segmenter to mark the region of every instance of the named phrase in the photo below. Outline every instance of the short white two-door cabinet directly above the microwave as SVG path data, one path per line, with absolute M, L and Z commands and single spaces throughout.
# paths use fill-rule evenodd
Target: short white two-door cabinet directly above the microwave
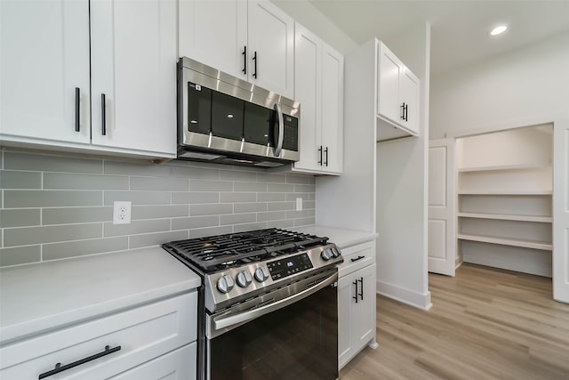
M 294 20 L 267 0 L 180 0 L 180 56 L 293 99 Z

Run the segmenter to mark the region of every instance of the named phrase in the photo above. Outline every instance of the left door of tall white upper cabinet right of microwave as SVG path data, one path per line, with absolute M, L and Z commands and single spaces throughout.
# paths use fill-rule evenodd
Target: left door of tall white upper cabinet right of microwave
M 297 169 L 319 170 L 322 128 L 322 42 L 298 23 L 294 44 L 294 100 L 301 103 L 301 159 Z

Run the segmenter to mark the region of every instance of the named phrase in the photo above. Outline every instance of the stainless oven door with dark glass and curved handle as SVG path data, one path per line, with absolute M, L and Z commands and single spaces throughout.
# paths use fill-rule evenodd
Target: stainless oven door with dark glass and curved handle
M 337 281 L 334 268 L 320 279 L 306 279 L 274 292 L 289 293 L 285 298 L 269 293 L 265 295 L 269 301 L 260 307 L 212 317 L 208 334 L 214 337 L 206 340 L 208 378 L 338 378 Z M 296 288 L 294 295 L 291 287 Z M 298 287 L 304 290 L 297 292 Z

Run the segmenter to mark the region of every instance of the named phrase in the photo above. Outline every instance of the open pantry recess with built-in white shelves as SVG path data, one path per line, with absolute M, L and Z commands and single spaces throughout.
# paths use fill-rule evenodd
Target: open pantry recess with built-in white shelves
M 552 126 L 456 140 L 458 255 L 552 274 Z

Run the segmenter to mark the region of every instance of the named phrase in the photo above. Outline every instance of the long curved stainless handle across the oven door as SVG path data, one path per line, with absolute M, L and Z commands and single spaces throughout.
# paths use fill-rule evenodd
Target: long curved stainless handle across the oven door
M 268 305 L 262 306 L 259 309 L 245 311 L 241 314 L 232 315 L 227 318 L 214 319 L 213 328 L 214 330 L 220 330 L 221 328 L 231 327 L 233 325 L 242 324 L 244 322 L 248 322 L 249 320 L 259 318 L 265 314 L 268 314 L 271 311 L 276 311 L 278 309 L 283 308 L 284 306 L 288 306 L 291 303 L 300 301 L 302 298 L 306 298 L 309 295 L 313 295 L 317 293 L 317 291 L 332 285 L 336 281 L 338 281 L 338 272 L 334 272 L 332 276 L 324 279 L 322 282 L 319 282 L 314 287 L 309 287 L 307 289 L 304 289 L 300 293 L 297 293 L 296 295 L 293 295 L 291 297 L 284 298 L 280 301 L 276 301 L 276 303 L 269 303 Z

